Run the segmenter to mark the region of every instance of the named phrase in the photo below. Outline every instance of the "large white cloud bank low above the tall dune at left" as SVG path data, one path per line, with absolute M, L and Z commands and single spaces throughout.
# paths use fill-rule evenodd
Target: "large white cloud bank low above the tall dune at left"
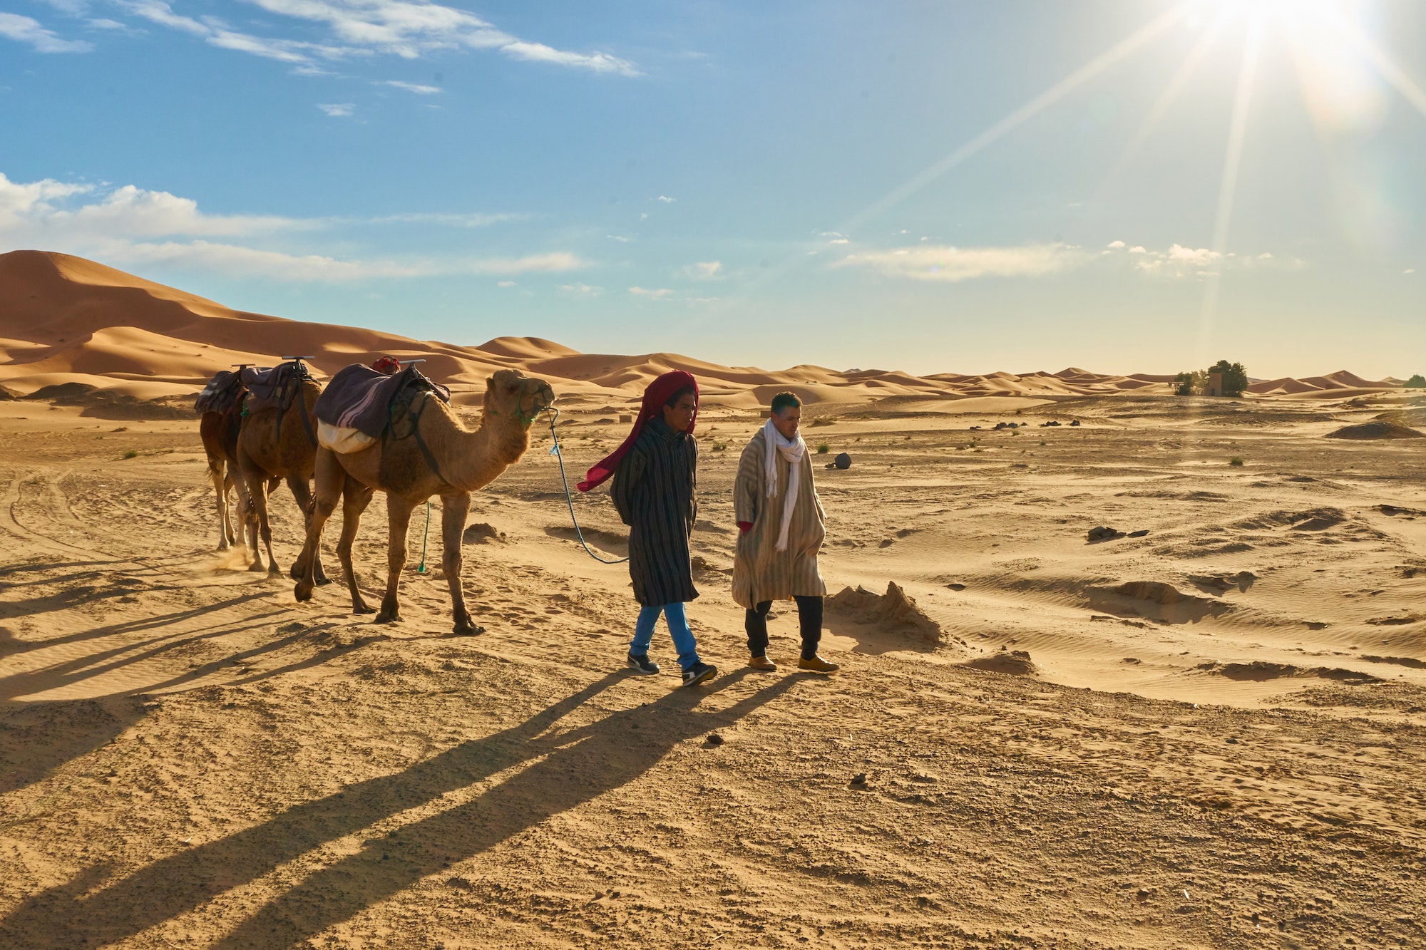
M 386 215 L 473 227 L 515 215 Z M 344 218 L 204 214 L 191 198 L 134 185 L 97 188 L 46 178 L 14 183 L 0 174 L 0 250 L 53 248 L 125 265 L 164 264 L 234 277 L 355 281 L 442 274 L 562 272 L 588 267 L 568 251 L 523 257 L 452 257 L 409 261 L 339 260 L 321 254 L 244 247 L 231 238 L 272 238 L 317 231 Z M 174 240 L 187 238 L 187 240 Z M 205 238 L 227 238 L 210 241 Z

